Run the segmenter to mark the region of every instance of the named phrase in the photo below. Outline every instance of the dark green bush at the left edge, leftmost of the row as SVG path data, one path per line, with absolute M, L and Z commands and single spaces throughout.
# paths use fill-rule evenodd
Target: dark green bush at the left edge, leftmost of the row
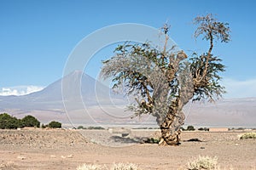
M 9 116 L 8 113 L 0 114 L 1 129 L 16 129 L 20 127 L 20 121 L 15 116 Z

